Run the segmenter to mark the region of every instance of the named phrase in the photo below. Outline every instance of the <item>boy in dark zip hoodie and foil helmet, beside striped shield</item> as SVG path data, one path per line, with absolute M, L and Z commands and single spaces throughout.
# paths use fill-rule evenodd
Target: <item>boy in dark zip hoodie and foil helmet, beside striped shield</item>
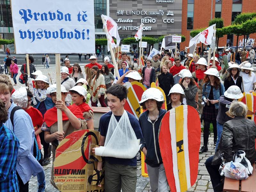
M 163 93 L 156 88 L 147 89 L 139 102 L 143 109 L 146 109 L 139 118 L 140 127 L 144 139 L 140 140 L 141 150 L 146 156 L 150 191 L 168 191 L 168 182 L 165 175 L 162 161 L 158 132 L 164 114 L 167 112 L 161 109 L 164 103 Z

